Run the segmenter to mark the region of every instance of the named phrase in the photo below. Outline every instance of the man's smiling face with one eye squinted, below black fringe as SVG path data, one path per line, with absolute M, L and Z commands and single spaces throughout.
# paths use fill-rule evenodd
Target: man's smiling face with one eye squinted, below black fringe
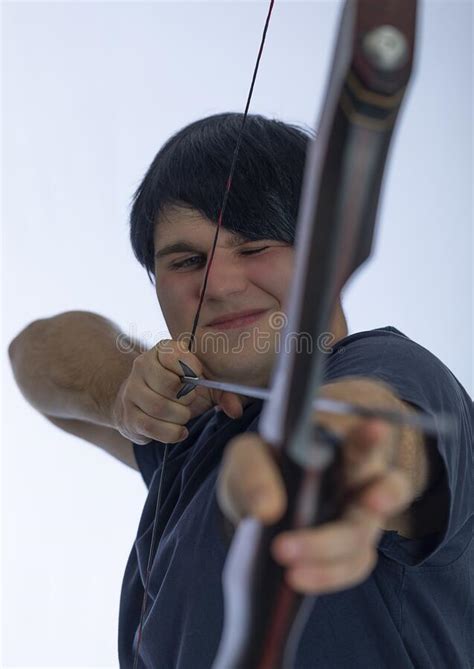
M 173 339 L 191 332 L 215 231 L 198 212 L 178 207 L 156 225 L 156 293 Z M 293 253 L 284 242 L 220 230 L 196 332 L 195 352 L 208 376 L 268 383 Z

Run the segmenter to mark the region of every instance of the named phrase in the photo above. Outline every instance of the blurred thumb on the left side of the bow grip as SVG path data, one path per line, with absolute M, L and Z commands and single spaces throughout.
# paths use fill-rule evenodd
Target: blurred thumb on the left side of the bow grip
M 244 434 L 229 442 L 217 494 L 223 513 L 235 524 L 245 516 L 265 524 L 281 517 L 286 506 L 283 481 L 258 435 Z

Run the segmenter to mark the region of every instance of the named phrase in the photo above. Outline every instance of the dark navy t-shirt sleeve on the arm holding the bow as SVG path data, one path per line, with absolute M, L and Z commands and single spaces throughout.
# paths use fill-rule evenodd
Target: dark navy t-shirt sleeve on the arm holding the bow
M 452 562 L 469 544 L 474 521 L 474 411 L 466 390 L 436 356 L 394 331 L 348 337 L 335 349 L 327 370 L 329 381 L 352 375 L 383 381 L 401 400 L 435 421 L 441 415 L 449 417 L 449 430 L 440 429 L 435 438 L 427 439 L 444 465 L 448 490 L 444 530 L 421 541 L 384 533 L 379 549 L 405 565 Z

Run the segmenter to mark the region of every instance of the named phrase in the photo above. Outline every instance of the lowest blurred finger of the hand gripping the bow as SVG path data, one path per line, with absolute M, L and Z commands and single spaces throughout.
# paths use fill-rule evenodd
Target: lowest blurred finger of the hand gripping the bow
M 328 563 L 325 566 L 304 565 L 290 568 L 287 583 L 297 592 L 321 594 L 351 588 L 364 581 L 377 563 L 377 551 L 370 548 L 353 560 Z

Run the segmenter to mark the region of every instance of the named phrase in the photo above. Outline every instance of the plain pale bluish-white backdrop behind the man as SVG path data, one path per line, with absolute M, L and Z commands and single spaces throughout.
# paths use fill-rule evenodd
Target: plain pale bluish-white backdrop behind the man
M 339 2 L 278 2 L 252 109 L 313 124 Z M 266 2 L 3 6 L 2 666 L 114 666 L 134 471 L 60 432 L 14 385 L 32 320 L 86 309 L 150 346 L 166 328 L 128 241 L 130 198 L 183 125 L 241 111 Z M 472 5 L 421 8 L 374 257 L 352 332 L 393 324 L 473 393 Z

